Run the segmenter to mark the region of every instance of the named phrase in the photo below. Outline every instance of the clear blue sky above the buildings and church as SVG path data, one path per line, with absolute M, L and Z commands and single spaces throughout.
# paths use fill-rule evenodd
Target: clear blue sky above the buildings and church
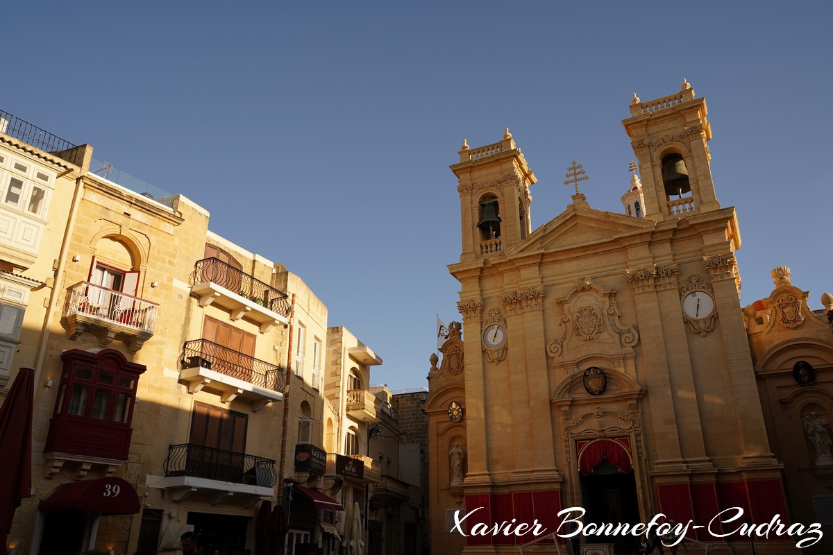
M 57 6 L 55 3 L 53 6 Z M 706 97 L 736 206 L 741 303 L 792 269 L 833 290 L 833 2 L 6 2 L 0 109 L 211 212 L 282 262 L 385 364 L 426 385 L 435 314 L 459 320 L 463 138 L 508 126 L 538 177 L 533 228 L 621 211 L 631 94 Z M 590 274 L 591 275 L 591 274 Z M 174 356 L 174 354 L 172 354 Z

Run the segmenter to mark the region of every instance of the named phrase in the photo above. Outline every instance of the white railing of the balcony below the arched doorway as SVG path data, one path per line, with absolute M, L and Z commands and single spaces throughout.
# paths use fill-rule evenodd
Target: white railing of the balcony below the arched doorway
M 153 333 L 159 305 L 121 291 L 81 281 L 67 290 L 63 316 L 87 315 Z

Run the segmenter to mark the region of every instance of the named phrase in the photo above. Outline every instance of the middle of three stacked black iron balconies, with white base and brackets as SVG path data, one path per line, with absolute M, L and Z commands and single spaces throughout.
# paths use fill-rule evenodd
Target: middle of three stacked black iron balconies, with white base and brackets
M 188 391 L 218 391 L 224 402 L 238 395 L 252 401 L 252 410 L 283 399 L 284 369 L 207 339 L 186 341 L 179 359 L 180 379 Z

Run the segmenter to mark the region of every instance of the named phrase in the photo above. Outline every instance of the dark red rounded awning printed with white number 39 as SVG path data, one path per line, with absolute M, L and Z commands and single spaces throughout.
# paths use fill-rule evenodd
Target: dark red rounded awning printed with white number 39
M 141 505 L 136 490 L 127 480 L 109 476 L 63 483 L 47 493 L 37 508 L 43 512 L 77 508 L 103 514 L 136 514 Z

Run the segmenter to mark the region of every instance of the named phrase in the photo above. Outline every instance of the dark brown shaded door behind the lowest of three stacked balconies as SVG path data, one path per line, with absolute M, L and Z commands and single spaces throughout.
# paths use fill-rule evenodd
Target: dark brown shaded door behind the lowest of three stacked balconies
M 186 473 L 242 483 L 247 425 L 246 414 L 194 403 Z

